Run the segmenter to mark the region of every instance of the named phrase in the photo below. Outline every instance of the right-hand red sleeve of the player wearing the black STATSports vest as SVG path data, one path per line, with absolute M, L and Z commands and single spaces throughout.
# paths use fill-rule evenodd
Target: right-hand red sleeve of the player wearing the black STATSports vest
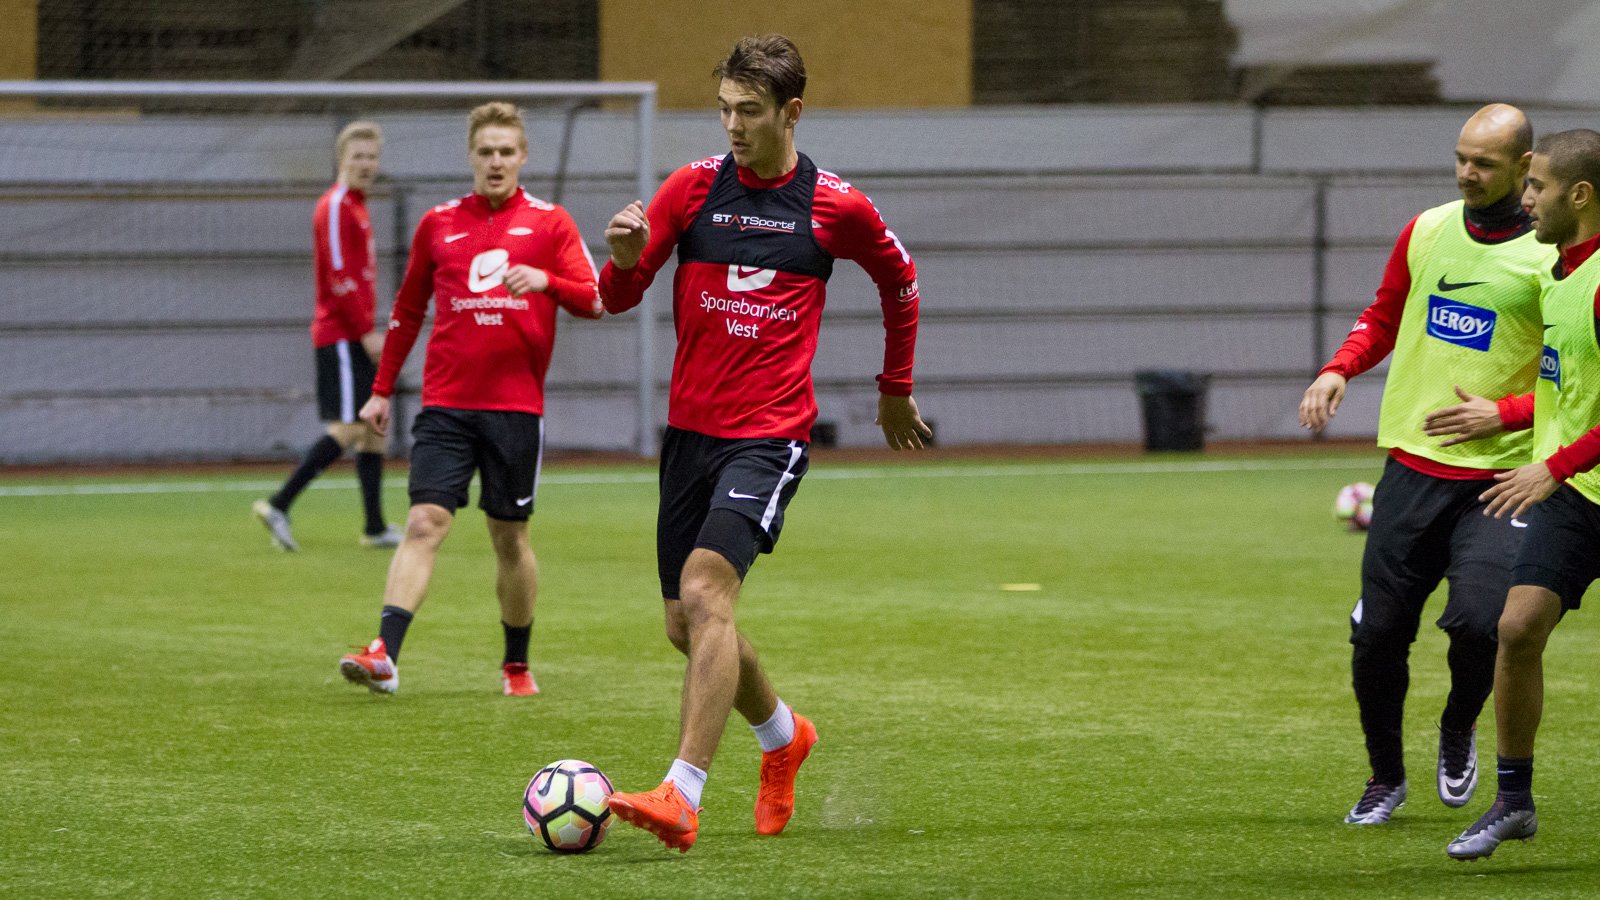
M 840 218 L 829 234 L 826 250 L 840 259 L 853 259 L 877 285 L 878 306 L 883 309 L 883 373 L 878 375 L 878 392 L 909 397 L 910 370 L 917 362 L 917 314 L 922 306 L 917 264 L 866 194 L 851 191 L 837 199 Z

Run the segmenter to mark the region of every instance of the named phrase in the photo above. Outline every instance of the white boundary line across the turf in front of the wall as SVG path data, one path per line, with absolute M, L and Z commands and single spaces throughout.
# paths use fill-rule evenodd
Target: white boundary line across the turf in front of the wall
M 859 479 L 995 479 L 995 477 L 1072 477 L 1072 476 L 1171 476 L 1205 472 L 1309 472 L 1341 469 L 1374 469 L 1381 458 L 1355 456 L 1314 460 L 1194 460 L 1194 461 L 1133 461 L 1133 463 L 1016 463 L 986 466 L 906 466 L 906 468 L 838 468 L 806 474 L 810 480 L 859 480 Z M 654 484 L 656 472 L 544 472 L 539 484 Z M 349 490 L 350 477 L 320 479 L 312 490 Z M 90 495 L 141 495 L 141 493 L 262 493 L 274 492 L 282 482 L 266 480 L 203 480 L 203 482 L 122 482 L 122 484 L 38 484 L 0 485 L 0 498 L 6 496 L 90 496 Z

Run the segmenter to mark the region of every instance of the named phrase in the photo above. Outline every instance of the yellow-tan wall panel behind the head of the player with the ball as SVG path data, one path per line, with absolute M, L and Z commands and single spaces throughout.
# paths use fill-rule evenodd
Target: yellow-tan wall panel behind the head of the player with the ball
M 800 46 L 808 107 L 971 102 L 971 0 L 600 0 L 600 77 L 656 82 L 666 109 L 710 107 L 712 67 L 768 32 Z

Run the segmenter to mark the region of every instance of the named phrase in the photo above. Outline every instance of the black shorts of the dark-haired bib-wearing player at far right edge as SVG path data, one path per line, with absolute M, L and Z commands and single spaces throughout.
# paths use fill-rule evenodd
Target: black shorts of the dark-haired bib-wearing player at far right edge
M 1528 538 L 1517 552 L 1512 585 L 1544 588 L 1562 597 L 1563 610 L 1578 609 L 1600 578 L 1600 506 L 1563 484 L 1522 519 Z

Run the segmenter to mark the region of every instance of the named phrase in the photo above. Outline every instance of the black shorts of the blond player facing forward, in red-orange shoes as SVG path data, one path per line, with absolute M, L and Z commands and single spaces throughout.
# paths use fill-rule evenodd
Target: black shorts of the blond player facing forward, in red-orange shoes
M 422 407 L 411 426 L 411 504 L 454 512 L 480 472 L 478 509 L 525 522 L 533 514 L 544 453 L 544 416 L 502 410 Z

